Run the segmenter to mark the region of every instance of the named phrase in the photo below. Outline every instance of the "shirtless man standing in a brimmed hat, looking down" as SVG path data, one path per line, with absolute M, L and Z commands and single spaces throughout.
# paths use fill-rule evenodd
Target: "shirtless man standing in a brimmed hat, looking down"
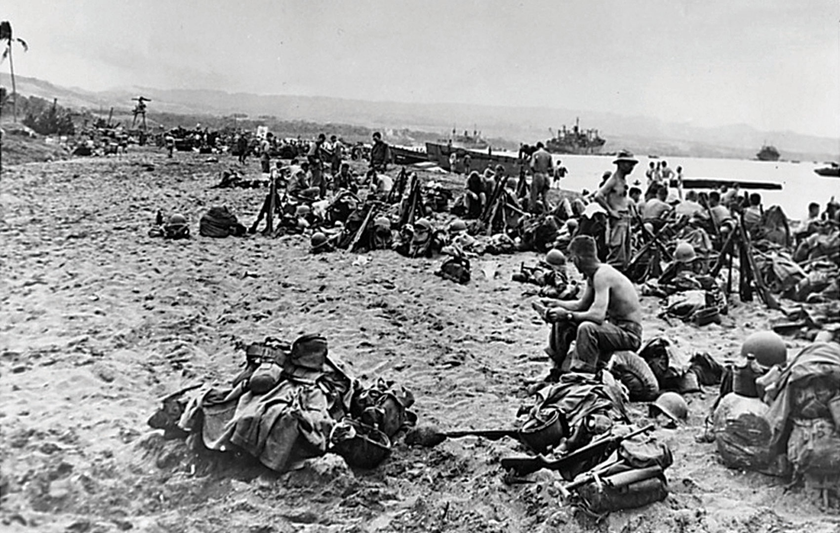
M 595 195 L 595 201 L 606 209 L 609 217 L 607 227 L 606 262 L 619 270 L 627 269 L 630 263 L 630 198 L 627 197 L 627 175 L 633 172 L 638 160 L 627 150 L 618 153 L 613 161 L 617 169 L 606 180 Z

